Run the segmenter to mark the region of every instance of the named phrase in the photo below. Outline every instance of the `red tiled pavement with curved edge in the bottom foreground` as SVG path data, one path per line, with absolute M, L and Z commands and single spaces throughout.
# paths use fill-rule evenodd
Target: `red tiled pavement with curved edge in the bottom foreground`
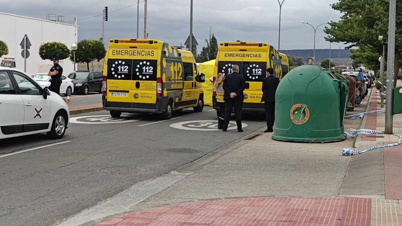
M 371 199 L 261 197 L 170 205 L 95 226 L 370 226 Z

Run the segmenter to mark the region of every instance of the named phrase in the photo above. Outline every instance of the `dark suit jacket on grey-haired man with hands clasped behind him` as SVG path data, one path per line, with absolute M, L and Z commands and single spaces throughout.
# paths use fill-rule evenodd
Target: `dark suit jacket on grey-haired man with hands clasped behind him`
M 225 76 L 223 88 L 225 90 L 224 100 L 232 99 L 230 98 L 232 92 L 236 93 L 236 97 L 233 99 L 244 100 L 243 91 L 246 89 L 246 81 L 241 74 L 233 72 Z

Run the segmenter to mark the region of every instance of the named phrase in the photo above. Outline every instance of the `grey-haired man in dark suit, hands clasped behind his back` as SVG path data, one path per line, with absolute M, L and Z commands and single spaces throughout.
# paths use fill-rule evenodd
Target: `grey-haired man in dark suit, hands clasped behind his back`
M 228 129 L 230 115 L 232 115 L 232 109 L 234 108 L 234 113 L 236 114 L 237 131 L 242 132 L 242 107 L 244 100 L 243 91 L 246 88 L 246 82 L 244 77 L 239 74 L 238 65 L 233 65 L 232 74 L 225 76 L 223 88 L 225 90 L 225 117 L 222 131 L 226 131 L 226 129 Z

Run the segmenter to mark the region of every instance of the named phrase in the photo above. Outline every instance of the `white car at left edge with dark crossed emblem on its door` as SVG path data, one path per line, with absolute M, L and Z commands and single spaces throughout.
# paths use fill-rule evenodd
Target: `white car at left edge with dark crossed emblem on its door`
M 0 139 L 45 132 L 59 139 L 69 119 L 62 97 L 21 70 L 0 67 Z

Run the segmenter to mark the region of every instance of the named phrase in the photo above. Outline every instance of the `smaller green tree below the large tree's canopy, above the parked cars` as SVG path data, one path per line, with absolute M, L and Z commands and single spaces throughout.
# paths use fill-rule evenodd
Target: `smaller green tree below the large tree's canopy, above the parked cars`
M 379 57 L 380 54 L 376 49 L 364 45 L 361 45 L 358 49 L 351 49 L 350 58 L 353 59 L 353 64 L 363 64 L 363 66 L 373 71 L 379 70 Z

